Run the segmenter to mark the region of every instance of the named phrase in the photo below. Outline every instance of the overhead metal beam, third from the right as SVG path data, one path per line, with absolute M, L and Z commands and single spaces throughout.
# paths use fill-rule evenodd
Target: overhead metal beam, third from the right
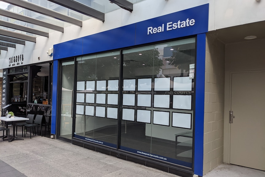
M 30 3 L 30 2 L 27 2 L 27 1 L 23 1 L 23 0 L 1 0 L 1 1 L 13 4 L 14 6 L 19 6 L 19 7 L 25 8 L 25 9 L 32 10 L 34 12 L 37 12 L 37 13 L 40 13 L 40 14 L 43 14 L 43 15 L 47 15 L 47 16 L 52 17 L 52 18 L 59 19 L 61 21 L 68 22 L 68 23 L 71 23 L 73 25 L 77 25 L 77 26 L 80 26 L 80 27 L 82 26 L 82 21 L 81 20 L 69 17 L 67 15 L 55 12 L 53 10 L 49 10 L 47 8 L 38 6 L 36 4 Z

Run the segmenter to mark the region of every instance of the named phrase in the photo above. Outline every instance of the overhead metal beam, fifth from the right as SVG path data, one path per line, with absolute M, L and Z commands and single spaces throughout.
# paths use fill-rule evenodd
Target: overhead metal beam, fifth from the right
M 44 36 L 44 37 L 49 38 L 49 33 L 44 32 L 44 31 L 40 31 L 40 30 L 36 30 L 34 28 L 30 28 L 30 27 L 26 27 L 26 26 L 22 26 L 22 25 L 17 25 L 15 23 L 6 22 L 3 20 L 0 20 L 0 25 L 5 26 L 7 28 L 13 28 L 16 30 L 25 31 L 25 32 L 32 33 L 32 34 L 38 34 L 40 36 Z

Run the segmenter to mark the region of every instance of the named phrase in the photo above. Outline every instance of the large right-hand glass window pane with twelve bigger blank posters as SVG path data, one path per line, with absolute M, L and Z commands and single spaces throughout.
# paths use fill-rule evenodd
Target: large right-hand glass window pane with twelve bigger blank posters
M 195 38 L 123 50 L 122 150 L 192 167 L 194 63 Z

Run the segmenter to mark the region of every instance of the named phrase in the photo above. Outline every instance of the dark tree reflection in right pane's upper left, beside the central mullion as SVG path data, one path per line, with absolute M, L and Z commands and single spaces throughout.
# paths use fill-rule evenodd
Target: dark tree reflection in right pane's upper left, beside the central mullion
M 141 54 L 141 55 L 139 55 Z M 159 58 L 158 49 L 144 50 L 123 55 L 123 76 L 135 78 L 135 75 L 159 74 L 162 70 L 163 60 Z

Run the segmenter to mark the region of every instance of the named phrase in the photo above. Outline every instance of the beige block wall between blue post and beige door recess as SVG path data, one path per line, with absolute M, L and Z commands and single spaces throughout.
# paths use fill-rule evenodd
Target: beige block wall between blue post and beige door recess
M 225 45 L 206 34 L 203 173 L 223 163 Z

